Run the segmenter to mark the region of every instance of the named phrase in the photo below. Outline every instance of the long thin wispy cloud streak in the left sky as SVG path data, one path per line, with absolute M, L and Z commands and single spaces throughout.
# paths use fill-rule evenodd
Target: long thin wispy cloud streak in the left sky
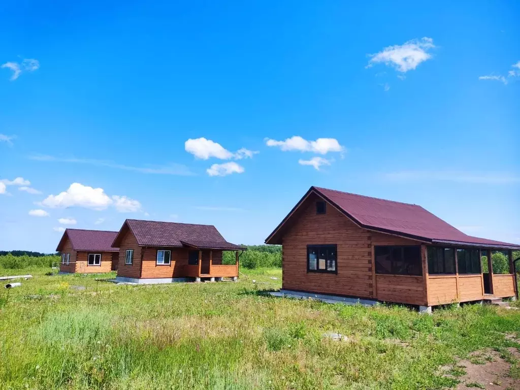
M 125 171 L 133 171 L 139 173 L 149 173 L 158 175 L 179 175 L 179 176 L 190 176 L 193 175 L 186 165 L 172 163 L 169 165 L 161 166 L 128 166 L 123 164 L 114 163 L 112 161 L 103 160 L 90 160 L 90 159 L 76 159 L 76 158 L 60 158 L 46 154 L 36 154 L 29 157 L 31 160 L 36 161 L 52 161 L 52 162 L 68 162 L 77 164 L 89 164 L 95 166 L 106 166 L 109 168 L 116 168 Z

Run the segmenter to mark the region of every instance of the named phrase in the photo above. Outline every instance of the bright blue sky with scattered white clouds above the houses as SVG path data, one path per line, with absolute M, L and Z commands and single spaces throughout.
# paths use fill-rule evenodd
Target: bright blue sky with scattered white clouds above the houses
M 0 5 L 0 250 L 262 243 L 311 185 L 520 242 L 518 3 L 147 3 Z

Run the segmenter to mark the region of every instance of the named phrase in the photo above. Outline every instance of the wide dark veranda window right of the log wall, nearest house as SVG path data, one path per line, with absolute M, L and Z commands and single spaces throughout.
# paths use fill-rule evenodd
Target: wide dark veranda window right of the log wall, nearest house
M 375 273 L 390 275 L 422 275 L 421 247 L 375 246 Z

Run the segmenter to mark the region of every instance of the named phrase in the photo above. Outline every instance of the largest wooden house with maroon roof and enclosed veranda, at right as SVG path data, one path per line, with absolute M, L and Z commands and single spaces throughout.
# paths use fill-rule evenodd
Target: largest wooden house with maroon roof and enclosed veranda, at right
M 468 236 L 415 204 L 311 187 L 265 242 L 282 245 L 285 292 L 427 311 L 515 295 L 512 250 L 520 245 Z M 508 274 L 493 274 L 493 251 L 508 254 Z

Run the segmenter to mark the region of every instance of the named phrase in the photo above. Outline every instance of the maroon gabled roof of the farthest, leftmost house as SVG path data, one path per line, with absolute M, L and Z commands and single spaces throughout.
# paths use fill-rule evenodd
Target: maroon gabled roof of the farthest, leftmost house
M 119 248 L 112 246 L 117 235 L 116 231 L 65 229 L 56 251 L 61 252 L 68 237 L 74 251 L 118 252 Z

